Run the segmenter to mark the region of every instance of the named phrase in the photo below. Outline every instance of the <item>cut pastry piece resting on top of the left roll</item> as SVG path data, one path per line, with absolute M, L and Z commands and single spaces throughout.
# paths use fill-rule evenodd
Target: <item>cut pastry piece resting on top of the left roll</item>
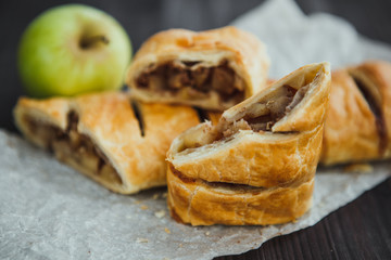
M 264 44 L 243 30 L 171 29 L 142 44 L 126 82 L 144 102 L 224 110 L 264 88 L 268 66 Z

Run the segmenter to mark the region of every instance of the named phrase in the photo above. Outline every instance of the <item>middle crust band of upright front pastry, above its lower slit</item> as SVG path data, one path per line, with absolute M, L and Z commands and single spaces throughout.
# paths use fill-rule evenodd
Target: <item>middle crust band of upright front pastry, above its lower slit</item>
M 203 131 L 212 130 L 204 123 Z M 258 187 L 301 183 L 315 174 L 321 136 L 323 126 L 308 132 L 267 138 L 251 130 L 241 131 L 228 141 L 204 145 L 191 160 L 182 161 L 188 155 L 177 154 L 175 168 L 187 178 L 209 182 Z

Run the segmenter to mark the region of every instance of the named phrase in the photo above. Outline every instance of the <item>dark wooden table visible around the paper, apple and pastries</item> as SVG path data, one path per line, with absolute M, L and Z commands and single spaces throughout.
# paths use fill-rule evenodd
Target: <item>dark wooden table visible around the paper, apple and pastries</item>
M 41 11 L 65 2 L 25 0 L 0 3 L 0 128 L 15 131 L 11 110 L 17 96 L 23 94 L 15 58 L 23 29 Z M 202 30 L 220 27 L 260 3 L 256 0 L 80 2 L 115 16 L 130 35 L 135 50 L 146 38 L 161 29 L 184 27 Z M 342 16 L 358 32 L 391 44 L 389 0 L 299 0 L 298 3 L 305 13 L 329 12 Z M 391 179 L 312 227 L 276 237 L 260 249 L 217 259 L 391 259 Z

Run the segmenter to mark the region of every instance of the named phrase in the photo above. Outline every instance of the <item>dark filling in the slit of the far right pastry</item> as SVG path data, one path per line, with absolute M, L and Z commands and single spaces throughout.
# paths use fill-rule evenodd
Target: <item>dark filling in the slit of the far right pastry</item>
M 369 105 L 370 110 L 373 112 L 376 120 L 376 129 L 379 134 L 380 143 L 379 143 L 379 154 L 383 155 L 387 150 L 388 135 L 387 135 L 387 127 L 383 117 L 383 113 L 380 107 L 380 103 L 377 102 L 375 98 L 375 93 L 370 91 L 370 88 L 366 86 L 361 79 L 351 75 L 358 90 L 362 92 L 364 99 Z

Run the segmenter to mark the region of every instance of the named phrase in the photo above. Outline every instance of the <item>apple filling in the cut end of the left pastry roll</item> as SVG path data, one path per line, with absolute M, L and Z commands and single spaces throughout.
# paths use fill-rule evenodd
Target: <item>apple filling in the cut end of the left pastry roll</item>
M 66 130 L 48 123 L 37 122 L 26 116 L 25 121 L 34 138 L 42 146 L 54 153 L 55 157 L 70 166 L 110 183 L 122 184 L 122 180 L 106 156 L 92 140 L 77 131 L 78 117 L 68 114 Z

